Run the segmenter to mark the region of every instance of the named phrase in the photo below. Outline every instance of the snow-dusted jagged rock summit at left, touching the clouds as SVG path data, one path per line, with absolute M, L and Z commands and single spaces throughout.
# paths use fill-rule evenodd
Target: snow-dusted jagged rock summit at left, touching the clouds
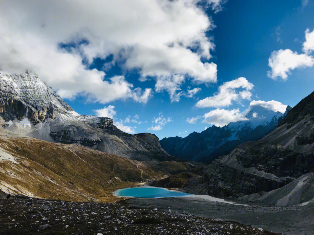
M 14 118 L 29 118 L 43 121 L 55 118 L 57 113 L 69 113 L 73 109 L 62 98 L 46 86 L 36 74 L 0 72 L 0 116 L 5 121 Z

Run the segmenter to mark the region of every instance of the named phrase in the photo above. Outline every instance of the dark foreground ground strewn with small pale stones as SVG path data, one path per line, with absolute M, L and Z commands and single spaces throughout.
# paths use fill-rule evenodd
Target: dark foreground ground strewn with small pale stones
M 33 199 L 0 200 L 0 234 L 274 234 L 262 229 L 187 213 L 126 206 Z

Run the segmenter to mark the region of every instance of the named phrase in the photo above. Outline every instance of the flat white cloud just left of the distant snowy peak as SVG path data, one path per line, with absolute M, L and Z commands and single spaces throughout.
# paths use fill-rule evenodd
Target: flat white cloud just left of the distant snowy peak
M 230 122 L 237 122 L 247 120 L 243 113 L 239 109 L 225 110 L 225 109 L 215 109 L 204 114 L 205 123 L 215 125 L 217 127 L 223 127 Z

